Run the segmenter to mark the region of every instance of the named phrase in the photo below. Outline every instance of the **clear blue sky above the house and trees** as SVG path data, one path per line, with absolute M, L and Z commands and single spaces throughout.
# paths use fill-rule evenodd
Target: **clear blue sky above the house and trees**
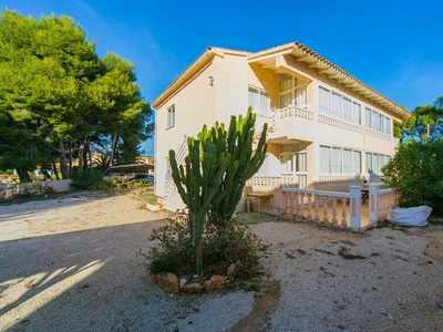
M 113 51 L 134 63 L 147 102 L 207 46 L 256 52 L 293 41 L 409 111 L 443 95 L 441 0 L 0 0 L 0 8 L 72 17 L 100 56 Z M 154 152 L 153 141 L 142 147 Z

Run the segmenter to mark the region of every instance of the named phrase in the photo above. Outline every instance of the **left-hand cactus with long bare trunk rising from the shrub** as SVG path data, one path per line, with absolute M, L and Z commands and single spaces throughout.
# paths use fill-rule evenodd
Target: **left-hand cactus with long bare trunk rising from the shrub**
M 228 154 L 217 154 L 217 146 L 212 142 L 200 145 L 197 139 L 188 138 L 188 156 L 185 167 L 177 166 L 175 152 L 169 151 L 172 176 L 177 190 L 189 209 L 189 230 L 196 256 L 196 273 L 203 270 L 202 235 L 210 203 L 218 190 L 226 167 Z M 185 189 L 186 188 L 186 189 Z

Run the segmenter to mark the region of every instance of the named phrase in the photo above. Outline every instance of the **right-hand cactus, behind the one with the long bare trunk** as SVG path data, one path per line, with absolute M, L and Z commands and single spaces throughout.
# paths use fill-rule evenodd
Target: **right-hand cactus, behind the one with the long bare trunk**
M 237 121 L 235 116 L 231 116 L 227 132 L 224 124 L 216 123 L 210 131 L 204 126 L 198 134 L 198 138 L 205 144 L 209 142 L 216 144 L 218 155 L 230 155 L 229 165 L 218 189 L 219 199 L 210 204 L 212 220 L 218 226 L 225 225 L 233 217 L 241 199 L 246 181 L 265 162 L 267 124 L 265 123 L 254 151 L 255 123 L 256 115 L 249 107 L 245 117 L 239 115 Z

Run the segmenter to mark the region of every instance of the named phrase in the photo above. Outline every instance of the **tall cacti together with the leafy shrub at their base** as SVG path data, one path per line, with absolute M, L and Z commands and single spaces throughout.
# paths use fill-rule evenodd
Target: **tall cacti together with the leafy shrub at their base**
M 256 115 L 233 116 L 229 128 L 216 123 L 197 138 L 188 138 L 188 155 L 178 165 L 169 151 L 172 177 L 188 215 L 156 229 L 151 240 L 161 245 L 150 251 L 153 273 L 223 272 L 240 261 L 244 274 L 256 271 L 264 246 L 233 218 L 246 181 L 265 160 L 265 124 L 255 142 Z M 255 144 L 256 143 L 256 144 Z

